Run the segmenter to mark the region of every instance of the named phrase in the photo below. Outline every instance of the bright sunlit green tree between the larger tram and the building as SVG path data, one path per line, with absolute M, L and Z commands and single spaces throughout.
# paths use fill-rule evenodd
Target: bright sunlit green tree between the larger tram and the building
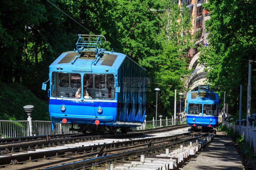
M 159 115 L 169 116 L 174 109 L 174 90 L 184 90 L 183 76 L 188 74 L 186 49 L 194 44 L 188 9 L 169 1 L 118 1 L 117 30 L 122 53 L 143 66 L 151 78 L 147 93 L 148 112 L 155 112 L 156 93 L 160 88 Z M 122 8 L 121 8 L 122 7 Z M 151 9 L 170 11 L 150 12 Z

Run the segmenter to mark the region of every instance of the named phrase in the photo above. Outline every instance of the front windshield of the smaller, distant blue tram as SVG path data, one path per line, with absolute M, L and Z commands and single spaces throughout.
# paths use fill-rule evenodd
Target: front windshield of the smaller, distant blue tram
M 189 115 L 212 115 L 217 116 L 218 115 L 218 106 L 217 104 L 204 104 L 202 107 L 202 104 L 195 104 L 195 103 L 189 103 L 188 104 L 188 114 Z

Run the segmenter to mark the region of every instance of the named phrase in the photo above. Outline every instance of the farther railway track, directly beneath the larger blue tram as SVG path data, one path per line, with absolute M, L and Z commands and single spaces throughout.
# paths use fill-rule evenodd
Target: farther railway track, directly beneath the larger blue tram
M 51 145 L 60 145 L 70 142 L 79 142 L 88 139 L 101 139 L 107 138 L 109 136 L 115 137 L 132 137 L 143 134 L 152 134 L 164 131 L 170 131 L 175 128 L 186 127 L 187 125 L 176 125 L 176 126 L 167 126 L 162 128 L 154 128 L 147 130 L 138 130 L 132 131 L 129 134 L 117 133 L 115 135 L 110 135 L 108 133 L 102 135 L 93 135 L 93 134 L 72 134 L 72 135 L 45 135 L 45 136 L 26 136 L 19 138 L 5 138 L 0 139 L 0 151 L 1 154 L 9 154 L 12 152 L 19 152 L 21 150 L 35 149 L 40 147 L 47 147 Z

